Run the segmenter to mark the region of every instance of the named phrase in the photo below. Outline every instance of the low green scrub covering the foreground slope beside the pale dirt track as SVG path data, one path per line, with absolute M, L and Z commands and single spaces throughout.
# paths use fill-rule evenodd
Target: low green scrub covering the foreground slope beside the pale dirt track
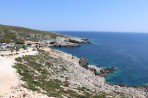
M 108 95 L 106 93 L 95 94 L 85 87 L 70 89 L 68 88 L 70 83 L 67 79 L 60 81 L 52 78 L 53 74 L 58 73 L 57 67 L 62 63 L 61 60 L 51 57 L 43 50 L 38 51 L 39 54 L 35 56 L 16 58 L 17 63 L 14 68 L 17 69 L 21 80 L 24 81 L 23 87 L 58 98 L 62 98 L 62 96 L 68 98 L 105 98 Z M 62 67 L 60 71 L 66 71 L 66 68 Z

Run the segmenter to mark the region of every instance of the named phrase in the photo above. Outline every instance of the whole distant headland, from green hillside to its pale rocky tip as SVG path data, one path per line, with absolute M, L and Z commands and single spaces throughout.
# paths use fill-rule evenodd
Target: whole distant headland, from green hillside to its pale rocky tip
M 0 43 L 24 44 L 26 40 L 54 47 L 79 47 L 79 43 L 90 43 L 85 38 L 65 36 L 55 32 L 24 27 L 0 25 Z

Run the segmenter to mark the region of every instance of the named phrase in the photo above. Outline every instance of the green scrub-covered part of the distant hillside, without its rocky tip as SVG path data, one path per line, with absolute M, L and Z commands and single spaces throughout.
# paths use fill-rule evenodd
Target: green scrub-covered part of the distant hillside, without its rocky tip
M 6 42 L 15 42 L 16 40 L 32 40 L 32 41 L 41 41 L 42 39 L 63 37 L 63 35 L 41 31 L 33 30 L 24 27 L 18 26 L 7 26 L 0 25 L 0 40 Z

